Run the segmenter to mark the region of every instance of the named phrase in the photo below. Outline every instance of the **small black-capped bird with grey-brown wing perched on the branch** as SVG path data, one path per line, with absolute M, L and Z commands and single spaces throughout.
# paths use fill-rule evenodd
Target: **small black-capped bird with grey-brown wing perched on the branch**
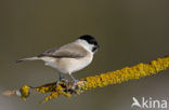
M 74 82 L 76 80 L 72 73 L 79 71 L 91 64 L 94 53 L 99 49 L 95 38 L 89 35 L 79 37 L 76 41 L 65 44 L 61 47 L 50 49 L 42 54 L 16 60 L 43 60 L 46 66 L 50 66 L 57 70 L 60 81 L 64 80 L 61 73 L 70 75 Z

